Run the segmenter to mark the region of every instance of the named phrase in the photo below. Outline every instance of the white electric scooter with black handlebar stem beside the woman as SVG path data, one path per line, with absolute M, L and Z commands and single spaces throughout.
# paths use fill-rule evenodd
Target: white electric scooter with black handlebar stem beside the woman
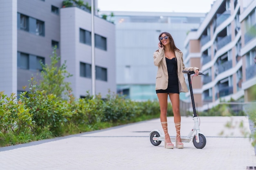
M 191 74 L 195 74 L 194 71 L 182 71 L 182 73 L 186 73 L 188 75 L 189 79 L 189 90 L 190 90 L 190 95 L 191 95 L 191 101 L 192 101 L 192 106 L 193 106 L 193 120 L 194 120 L 194 127 L 191 129 L 189 134 L 186 137 L 181 137 L 182 142 L 190 142 L 191 139 L 193 141 L 193 144 L 195 148 L 202 149 L 206 145 L 206 138 L 200 132 L 199 128 L 199 117 L 196 114 L 195 110 L 195 101 L 194 101 L 194 96 L 193 96 L 193 90 L 192 90 L 192 84 L 191 84 Z M 199 75 L 204 75 L 202 73 L 199 73 Z M 193 133 L 195 132 L 195 135 L 192 138 Z M 171 141 L 175 141 L 174 137 L 170 137 Z M 161 144 L 161 142 L 164 141 L 164 135 L 160 132 L 160 130 L 152 130 L 150 132 L 150 142 L 154 146 L 158 146 Z

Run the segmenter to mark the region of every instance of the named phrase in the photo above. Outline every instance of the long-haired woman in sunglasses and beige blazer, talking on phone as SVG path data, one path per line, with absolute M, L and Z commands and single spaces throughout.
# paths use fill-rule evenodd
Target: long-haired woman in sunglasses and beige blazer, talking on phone
M 173 107 L 174 123 L 176 128 L 176 148 L 183 148 L 180 138 L 180 92 L 188 92 L 182 70 L 194 71 L 199 74 L 197 67 L 184 67 L 183 54 L 177 49 L 170 33 L 159 35 L 158 50 L 154 53 L 154 64 L 158 66 L 155 90 L 160 105 L 160 120 L 165 135 L 164 147 L 173 149 L 167 126 L 167 100 L 168 95 Z

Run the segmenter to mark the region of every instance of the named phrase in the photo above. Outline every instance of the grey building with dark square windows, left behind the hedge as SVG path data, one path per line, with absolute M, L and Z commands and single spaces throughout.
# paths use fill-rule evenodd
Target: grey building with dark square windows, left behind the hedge
M 0 91 L 20 93 L 49 64 L 53 47 L 76 98 L 92 94 L 91 0 L 0 0 Z M 65 1 L 67 2 L 67 1 Z M 87 7 L 87 8 L 86 8 Z M 97 9 L 97 0 L 94 4 Z M 116 91 L 115 25 L 94 11 L 95 94 Z M 28 89 L 27 89 L 28 90 Z

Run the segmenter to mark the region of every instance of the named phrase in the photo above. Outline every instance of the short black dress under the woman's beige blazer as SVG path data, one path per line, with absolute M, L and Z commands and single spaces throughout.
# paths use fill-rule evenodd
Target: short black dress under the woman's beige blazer
M 168 87 L 160 90 L 156 90 L 156 93 L 178 93 L 179 92 L 179 82 L 178 82 L 178 75 L 177 75 L 177 60 L 176 58 L 172 58 L 171 60 L 166 58 L 166 65 L 168 71 Z

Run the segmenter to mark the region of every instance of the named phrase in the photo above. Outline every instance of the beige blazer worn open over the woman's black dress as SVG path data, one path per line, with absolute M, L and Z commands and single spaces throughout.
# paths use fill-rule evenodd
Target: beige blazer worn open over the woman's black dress
M 183 63 L 183 54 L 181 51 L 175 51 L 175 57 L 177 59 L 177 75 L 179 80 L 179 91 L 180 92 L 188 92 L 188 88 L 186 86 L 184 73 L 185 71 L 196 71 L 199 70 L 197 67 L 186 67 Z M 165 90 L 168 86 L 168 71 L 166 65 L 166 59 L 164 55 L 164 50 L 159 49 L 154 53 L 154 64 L 158 66 L 156 82 L 155 82 L 155 90 L 163 89 Z

